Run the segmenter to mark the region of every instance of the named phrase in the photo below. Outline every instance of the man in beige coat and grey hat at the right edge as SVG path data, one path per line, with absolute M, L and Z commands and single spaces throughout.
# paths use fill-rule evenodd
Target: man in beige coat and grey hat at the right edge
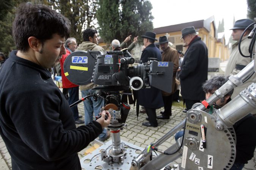
M 247 66 L 251 62 L 250 57 L 243 57 L 239 53 L 238 42 L 239 42 L 239 39 L 240 39 L 243 31 L 245 30 L 245 28 L 247 28 L 247 26 L 251 25 L 252 23 L 253 23 L 253 20 L 241 19 L 241 20 L 237 20 L 234 24 L 234 27 L 231 28 L 231 30 L 232 30 L 231 36 L 232 36 L 233 40 L 235 40 L 237 42 L 234 43 L 234 45 L 232 46 L 232 51 L 231 51 L 231 54 L 230 54 L 230 57 L 228 60 L 228 64 L 226 66 L 225 76 L 230 76 L 231 74 L 235 75 L 235 74 L 239 73 L 243 68 L 245 68 L 245 66 Z M 243 55 L 245 55 L 245 56 L 250 55 L 248 49 L 249 49 L 251 39 L 248 39 L 247 36 L 251 32 L 252 29 L 253 29 L 253 25 L 251 25 L 250 28 L 245 32 L 245 34 L 243 35 L 241 44 L 240 44 L 241 51 L 242 51 Z M 244 82 L 239 87 L 234 88 L 234 93 L 232 94 L 231 98 L 234 99 L 234 97 L 239 95 L 239 93 L 243 89 L 247 88 L 253 82 L 254 83 L 256 82 L 256 74 L 253 74 L 253 76 L 251 76 L 250 79 L 248 79 L 246 82 Z

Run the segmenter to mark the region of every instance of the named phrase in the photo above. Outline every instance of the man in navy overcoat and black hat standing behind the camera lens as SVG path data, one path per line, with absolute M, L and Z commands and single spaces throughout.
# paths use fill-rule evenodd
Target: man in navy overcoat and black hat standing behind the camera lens
M 146 48 L 142 51 L 140 61 L 146 63 L 148 62 L 148 58 L 155 58 L 161 61 L 160 49 L 158 49 L 154 44 L 155 40 L 157 41 L 157 39 L 155 39 L 155 33 L 146 31 L 145 35 L 141 37 L 144 38 L 143 43 Z M 163 107 L 161 91 L 152 86 L 148 89 L 141 89 L 138 91 L 138 102 L 141 106 L 145 107 L 146 113 L 148 115 L 149 122 L 144 122 L 142 125 L 147 127 L 157 127 L 158 124 L 155 109 Z

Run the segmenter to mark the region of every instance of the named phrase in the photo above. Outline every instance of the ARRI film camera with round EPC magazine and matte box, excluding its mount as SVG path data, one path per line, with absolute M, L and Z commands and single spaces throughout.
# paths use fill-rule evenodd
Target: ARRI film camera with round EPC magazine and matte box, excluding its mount
M 64 63 L 64 73 L 74 84 L 93 82 L 102 90 L 155 87 L 171 93 L 173 63 L 149 58 L 147 63 L 135 62 L 127 49 L 123 51 L 75 51 Z

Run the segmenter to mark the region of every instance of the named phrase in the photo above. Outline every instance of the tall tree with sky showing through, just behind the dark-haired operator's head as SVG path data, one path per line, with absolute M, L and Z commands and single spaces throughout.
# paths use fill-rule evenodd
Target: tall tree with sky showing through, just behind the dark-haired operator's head
M 94 28 L 98 8 L 98 0 L 43 0 L 43 3 L 60 12 L 71 22 L 71 37 L 77 39 L 77 43 L 83 41 L 82 30 Z

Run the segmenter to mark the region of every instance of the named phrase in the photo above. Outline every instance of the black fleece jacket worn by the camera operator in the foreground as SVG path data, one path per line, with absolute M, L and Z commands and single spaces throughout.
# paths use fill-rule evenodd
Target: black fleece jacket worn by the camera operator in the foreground
M 81 169 L 77 152 L 101 134 L 101 125 L 76 128 L 50 72 L 16 53 L 0 68 L 0 134 L 13 170 Z

